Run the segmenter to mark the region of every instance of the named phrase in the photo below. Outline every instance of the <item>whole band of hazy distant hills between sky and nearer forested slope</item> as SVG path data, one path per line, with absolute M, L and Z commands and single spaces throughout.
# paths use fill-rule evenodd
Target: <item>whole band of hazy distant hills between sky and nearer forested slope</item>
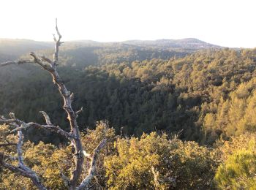
M 85 67 L 97 64 L 113 64 L 160 58 L 184 57 L 189 53 L 203 49 L 219 49 L 199 39 L 157 39 L 129 40 L 124 42 L 96 42 L 76 40 L 61 45 L 61 64 Z M 53 55 L 53 42 L 37 42 L 30 39 L 0 39 L 0 62 L 16 59 L 20 56 L 29 58 L 31 51 L 45 56 Z

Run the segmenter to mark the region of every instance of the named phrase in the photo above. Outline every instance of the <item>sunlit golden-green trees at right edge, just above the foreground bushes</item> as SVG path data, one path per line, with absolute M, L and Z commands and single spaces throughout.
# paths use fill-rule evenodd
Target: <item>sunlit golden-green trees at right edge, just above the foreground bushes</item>
M 206 132 L 222 130 L 226 136 L 256 132 L 256 80 L 241 83 L 226 100 L 215 104 L 215 111 L 207 113 L 203 126 Z

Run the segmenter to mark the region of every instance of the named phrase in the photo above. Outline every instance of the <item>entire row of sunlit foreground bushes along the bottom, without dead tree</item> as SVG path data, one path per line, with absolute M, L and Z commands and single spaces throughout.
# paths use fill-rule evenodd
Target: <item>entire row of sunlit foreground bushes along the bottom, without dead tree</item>
M 1 126 L 0 134 L 14 140 L 6 126 Z M 90 189 L 254 189 L 256 185 L 256 134 L 219 140 L 215 148 L 207 148 L 156 132 L 140 138 L 116 136 L 108 123 L 98 122 L 95 130 L 82 134 L 83 146 L 91 153 L 105 137 L 108 143 Z M 71 149 L 71 145 L 28 141 L 24 158 L 48 189 L 67 189 L 62 176 L 69 177 L 73 169 Z M 15 156 L 13 148 L 0 150 Z M 35 189 L 27 178 L 4 168 L 0 173 L 0 189 Z

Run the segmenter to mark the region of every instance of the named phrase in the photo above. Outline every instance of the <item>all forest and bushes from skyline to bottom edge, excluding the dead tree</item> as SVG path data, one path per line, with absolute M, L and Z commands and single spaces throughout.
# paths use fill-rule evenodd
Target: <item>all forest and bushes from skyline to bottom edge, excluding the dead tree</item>
M 75 94 L 73 107 L 83 107 L 78 117 L 83 145 L 90 152 L 108 137 L 91 189 L 256 187 L 256 50 L 201 43 L 187 39 L 175 45 L 159 40 L 64 46 L 58 69 Z M 41 49 L 37 53 L 53 53 L 46 46 Z M 19 56 L 27 58 L 23 52 L 15 58 Z M 14 57 L 4 52 L 0 58 Z M 13 112 L 24 121 L 42 123 L 39 111 L 44 110 L 67 130 L 61 97 L 38 66 L 2 67 L 0 94 L 2 115 Z M 43 130 L 24 133 L 27 164 L 37 172 L 45 169 L 42 178 L 49 189 L 66 189 L 58 176 L 60 168 L 65 175 L 71 171 L 71 145 Z M 14 139 L 6 126 L 0 134 Z M 22 178 L 20 184 L 15 178 L 21 177 L 2 170 L 0 189 L 11 183 L 34 188 L 29 180 Z

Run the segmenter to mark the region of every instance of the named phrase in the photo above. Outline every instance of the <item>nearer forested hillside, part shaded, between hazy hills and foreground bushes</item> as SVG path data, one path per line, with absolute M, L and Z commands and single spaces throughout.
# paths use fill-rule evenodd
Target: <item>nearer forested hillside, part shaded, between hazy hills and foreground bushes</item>
M 59 69 L 75 92 L 75 107 L 86 107 L 78 120 L 80 126 L 93 128 L 96 121 L 108 120 L 117 133 L 123 128 L 125 134 L 138 136 L 155 130 L 169 134 L 183 130 L 182 139 L 211 144 L 220 136 L 248 130 L 228 124 L 235 121 L 223 124 L 218 109 L 221 102 L 230 102 L 239 86 L 254 83 L 255 58 L 255 50 L 203 50 L 181 58 L 106 62 L 84 69 L 67 64 Z M 60 99 L 54 86 L 49 86 L 47 73 L 24 65 L 1 69 L 0 76 L 1 113 L 13 111 L 28 121 L 41 121 L 34 113 L 45 110 L 53 121 L 67 126 L 61 121 Z M 254 87 L 249 89 L 252 93 Z M 28 135 L 34 141 L 42 137 L 34 132 Z

